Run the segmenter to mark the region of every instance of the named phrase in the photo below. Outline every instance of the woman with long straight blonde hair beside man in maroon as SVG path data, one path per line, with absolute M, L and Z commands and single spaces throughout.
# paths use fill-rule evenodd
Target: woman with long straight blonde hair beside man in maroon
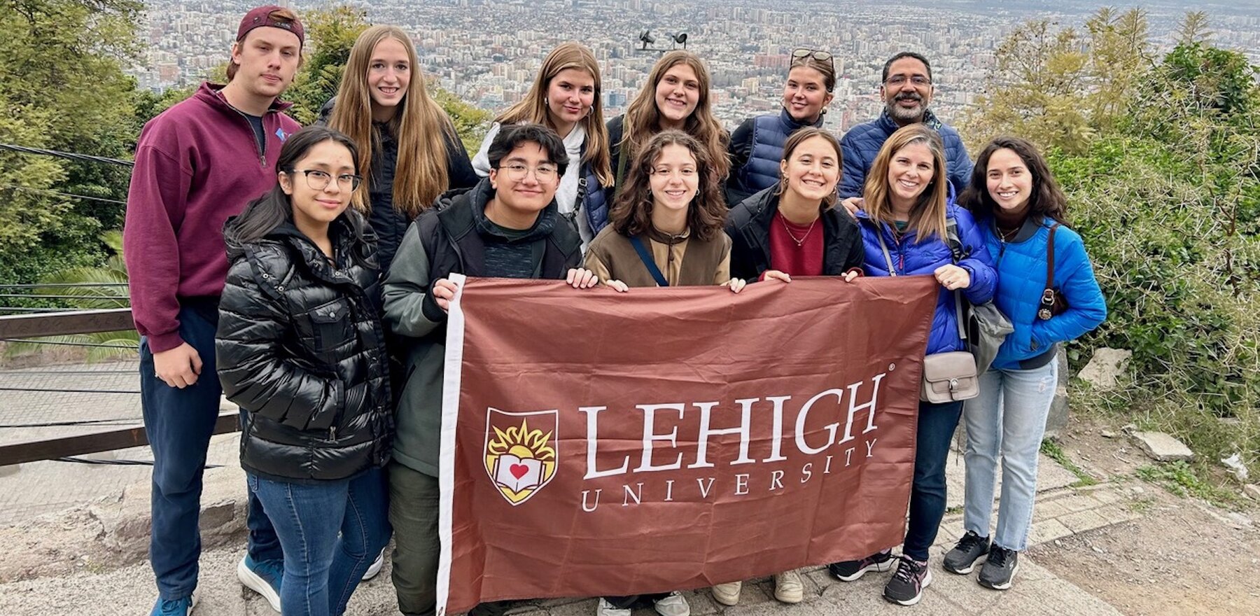
M 444 191 L 478 181 L 451 118 L 425 88 L 416 45 L 396 25 L 359 34 L 321 120 L 359 145 L 368 190 L 355 194 L 354 207 L 377 233 L 382 271 L 421 212 Z

